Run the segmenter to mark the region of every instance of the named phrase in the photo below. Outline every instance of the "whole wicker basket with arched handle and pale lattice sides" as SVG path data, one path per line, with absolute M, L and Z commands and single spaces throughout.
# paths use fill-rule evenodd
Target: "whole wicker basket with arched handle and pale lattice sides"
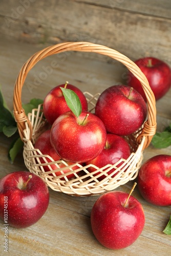
M 134 74 L 143 87 L 147 98 L 148 116 L 144 125 L 139 131 L 131 136 L 125 137 L 129 142 L 132 150 L 132 154 L 128 159 L 121 159 L 115 165 L 108 164 L 102 168 L 95 167 L 94 173 L 89 173 L 89 166 L 81 166 L 80 164 L 74 164 L 70 166 L 71 173 L 74 173 L 72 180 L 68 180 L 67 176 L 62 173 L 62 170 L 69 168 L 67 163 L 62 160 L 66 167 L 59 168 L 58 164 L 61 161 L 54 161 L 48 155 L 42 155 L 39 150 L 34 148 L 34 142 L 38 136 L 47 129 L 47 121 L 44 119 L 42 112 L 42 105 L 38 106 L 38 109 L 34 109 L 32 113 L 26 116 L 22 108 L 22 87 L 24 85 L 28 72 L 34 67 L 34 65 L 41 59 L 53 54 L 65 52 L 65 51 L 82 51 L 82 52 L 95 52 L 98 54 L 110 56 L 123 63 Z M 89 92 L 85 92 L 88 100 L 89 111 L 93 111 L 98 96 L 91 95 Z M 54 46 L 50 46 L 43 49 L 33 56 L 24 64 L 20 72 L 18 73 L 15 87 L 14 87 L 14 117 L 17 122 L 18 132 L 22 140 L 24 141 L 24 160 L 27 168 L 31 173 L 40 176 L 53 190 L 60 191 L 74 196 L 91 196 L 102 194 L 105 191 L 113 190 L 120 185 L 136 178 L 138 170 L 141 166 L 143 159 L 143 150 L 149 145 L 153 135 L 156 132 L 156 107 L 155 97 L 149 87 L 148 81 L 141 70 L 126 56 L 121 53 L 102 46 L 92 44 L 90 42 L 66 42 Z M 40 157 L 44 158 L 45 163 L 40 162 Z M 118 167 L 118 164 L 120 164 Z M 45 172 L 44 166 L 49 166 L 49 172 Z M 55 171 L 51 168 L 51 164 L 56 164 L 56 168 L 59 168 L 61 175 L 56 177 Z M 77 165 L 77 169 L 72 168 Z M 107 168 L 108 167 L 108 168 Z M 106 169 L 107 168 L 107 169 Z M 111 175 L 106 174 L 110 169 L 114 168 L 114 172 Z M 97 176 L 94 174 L 99 173 Z M 116 174 L 113 178 L 113 176 Z M 105 175 L 105 178 L 101 181 L 98 177 Z M 61 179 L 62 178 L 62 179 Z

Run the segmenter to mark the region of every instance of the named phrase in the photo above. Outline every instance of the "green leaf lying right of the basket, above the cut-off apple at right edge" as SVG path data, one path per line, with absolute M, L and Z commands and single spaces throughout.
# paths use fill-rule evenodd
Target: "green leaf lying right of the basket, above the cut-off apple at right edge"
M 152 144 L 156 148 L 164 148 L 171 145 L 171 133 L 164 131 L 156 133 L 152 139 Z

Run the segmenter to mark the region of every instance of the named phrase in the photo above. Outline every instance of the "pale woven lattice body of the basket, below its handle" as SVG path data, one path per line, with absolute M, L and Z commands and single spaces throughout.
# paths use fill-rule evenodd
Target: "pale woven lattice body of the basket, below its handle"
M 38 106 L 38 109 L 33 109 L 32 113 L 28 114 L 28 118 L 33 124 L 33 137 L 36 135 L 36 137 L 39 137 L 37 134 L 37 130 L 41 131 L 40 133 L 44 132 L 40 129 L 41 122 L 39 120 L 41 119 L 39 115 L 39 111 L 41 109 L 40 104 Z M 35 113 L 37 112 L 37 114 Z M 46 123 L 46 121 L 45 121 Z M 46 126 L 45 126 L 46 128 Z M 46 129 L 45 129 L 46 130 Z M 55 172 L 56 170 L 50 169 L 49 172 L 44 170 L 44 166 L 51 166 L 51 164 L 58 164 L 60 162 L 65 162 L 63 160 L 54 161 L 49 155 L 43 155 L 38 148 L 34 147 L 34 142 L 36 139 L 33 138 L 31 141 L 30 138 L 30 129 L 28 126 L 28 123 L 26 123 L 26 129 L 24 130 L 24 159 L 26 166 L 30 170 L 31 173 L 34 173 L 38 176 L 40 176 L 42 179 L 44 179 L 49 187 L 51 187 L 53 190 L 56 191 L 62 191 L 63 193 L 70 194 L 70 195 L 77 195 L 77 196 L 90 196 L 90 195 L 97 195 L 99 193 L 104 193 L 104 191 L 113 190 L 114 188 L 118 187 L 119 185 L 123 185 L 126 183 L 126 181 L 133 180 L 137 176 L 137 170 L 139 169 L 139 166 L 142 162 L 143 155 L 142 155 L 142 147 L 145 140 L 145 136 L 142 138 L 141 143 L 138 145 L 136 142 L 136 148 L 135 151 L 132 151 L 131 155 L 127 159 L 120 159 L 115 164 L 107 164 L 101 168 L 98 168 L 95 165 L 89 164 L 86 166 L 82 166 L 79 163 L 75 163 L 73 165 L 70 165 L 70 168 L 73 168 L 74 166 L 78 166 L 79 168 L 76 169 L 76 172 L 74 169 L 71 170 L 71 174 L 74 173 L 76 176 L 74 179 L 70 180 L 67 178 L 66 174 L 61 174 L 60 176 L 56 176 Z M 130 135 L 133 136 L 133 135 Z M 137 134 L 135 133 L 135 137 Z M 133 136 L 133 137 L 134 137 Z M 45 163 L 40 162 L 37 159 L 44 159 Z M 34 160 L 37 160 L 34 161 Z M 48 160 L 51 160 L 49 162 Z M 118 167 L 118 164 L 121 163 L 121 165 Z M 66 163 L 67 166 L 67 163 Z M 88 171 L 88 167 L 93 166 L 96 168 L 93 173 L 90 173 Z M 62 172 L 67 167 L 60 167 L 58 168 L 59 172 Z M 109 172 L 110 169 L 115 168 L 115 171 L 112 172 L 110 175 L 106 175 L 105 178 L 103 178 L 102 181 L 98 181 L 98 177 L 101 175 L 105 175 Z M 84 174 L 81 176 L 77 176 L 76 174 L 79 172 L 79 170 L 84 170 Z M 101 172 L 99 175 L 94 176 L 94 174 Z M 117 173 L 114 178 L 114 173 Z M 53 175 L 53 177 L 51 176 Z M 60 180 L 61 178 L 65 178 L 65 180 Z M 84 181 L 84 179 L 89 178 L 88 180 Z M 81 182 L 80 182 L 81 180 Z

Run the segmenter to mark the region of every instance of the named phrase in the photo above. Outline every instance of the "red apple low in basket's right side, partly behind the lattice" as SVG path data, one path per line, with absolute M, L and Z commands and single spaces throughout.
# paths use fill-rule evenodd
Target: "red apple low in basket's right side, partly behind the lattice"
M 120 136 L 115 134 L 107 134 L 105 147 L 103 148 L 102 152 L 93 160 L 88 161 L 88 164 L 94 164 L 97 167 L 101 168 L 107 164 L 115 164 L 120 159 L 127 159 L 131 154 L 130 145 Z M 117 165 L 119 167 L 123 162 Z M 88 168 L 89 172 L 94 172 L 96 169 L 94 167 Z M 105 169 L 104 169 L 105 170 Z M 108 175 L 115 171 L 115 168 L 109 170 Z M 100 172 L 94 174 L 99 175 Z M 114 174 L 112 177 L 114 177 Z M 106 176 L 102 175 L 98 179 L 102 180 Z

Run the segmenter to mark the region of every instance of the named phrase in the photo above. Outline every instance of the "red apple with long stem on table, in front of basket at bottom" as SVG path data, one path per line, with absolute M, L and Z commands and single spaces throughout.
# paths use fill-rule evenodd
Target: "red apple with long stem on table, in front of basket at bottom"
M 100 196 L 93 205 L 91 226 L 96 239 L 110 249 L 122 249 L 133 244 L 140 236 L 144 211 L 140 202 L 122 191 Z M 125 204 L 126 203 L 126 204 Z

